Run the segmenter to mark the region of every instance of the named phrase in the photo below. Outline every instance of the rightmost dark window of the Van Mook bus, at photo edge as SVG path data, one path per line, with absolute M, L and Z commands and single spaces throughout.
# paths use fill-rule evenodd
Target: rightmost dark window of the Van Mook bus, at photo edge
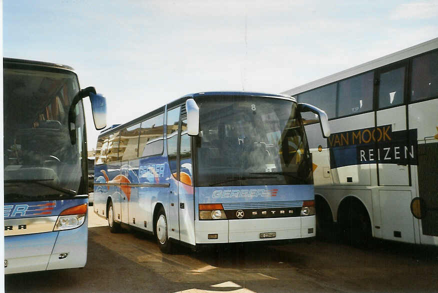
M 438 95 L 438 51 L 413 59 L 411 89 L 412 101 Z

